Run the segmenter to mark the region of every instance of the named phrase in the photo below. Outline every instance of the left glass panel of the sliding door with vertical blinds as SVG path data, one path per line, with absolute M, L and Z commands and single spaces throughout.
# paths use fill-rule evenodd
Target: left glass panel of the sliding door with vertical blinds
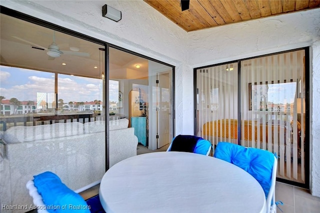
M 197 135 L 237 143 L 237 63 L 196 70 Z

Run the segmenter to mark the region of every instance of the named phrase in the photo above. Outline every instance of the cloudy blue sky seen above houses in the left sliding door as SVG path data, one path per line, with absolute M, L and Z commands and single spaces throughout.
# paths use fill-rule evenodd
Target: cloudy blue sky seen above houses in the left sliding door
M 117 85 L 110 89 L 116 90 L 110 100 L 117 101 Z M 39 92 L 54 94 L 54 73 L 0 66 L 0 95 L 5 99 L 35 101 Z M 59 74 L 58 99 L 64 103 L 102 100 L 102 80 Z

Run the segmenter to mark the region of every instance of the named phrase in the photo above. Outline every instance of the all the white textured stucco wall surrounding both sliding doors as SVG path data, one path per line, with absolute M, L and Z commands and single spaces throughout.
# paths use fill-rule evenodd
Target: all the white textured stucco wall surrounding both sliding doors
M 119 22 L 101 16 L 105 3 L 121 10 Z M 0 4 L 176 66 L 176 134 L 193 134 L 190 85 L 198 66 L 311 46 L 311 111 L 320 102 L 320 9 L 186 33 L 142 0 L 1 0 Z M 310 183 L 312 194 L 320 197 L 320 121 L 314 111 Z

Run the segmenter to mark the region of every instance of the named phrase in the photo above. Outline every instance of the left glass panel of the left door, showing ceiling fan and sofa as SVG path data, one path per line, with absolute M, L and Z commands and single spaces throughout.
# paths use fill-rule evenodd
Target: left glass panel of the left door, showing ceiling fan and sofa
M 0 203 L 28 207 L 1 209 L 19 213 L 32 209 L 34 175 L 51 171 L 81 192 L 105 173 L 105 125 L 90 125 L 105 108 L 104 45 L 3 13 L 0 21 Z

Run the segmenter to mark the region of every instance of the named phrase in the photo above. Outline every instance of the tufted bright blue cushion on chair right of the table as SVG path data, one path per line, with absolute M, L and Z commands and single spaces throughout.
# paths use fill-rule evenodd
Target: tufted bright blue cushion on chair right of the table
M 261 185 L 265 197 L 271 187 L 274 155 L 266 150 L 246 148 L 228 142 L 219 142 L 213 157 L 234 164 L 252 175 Z

